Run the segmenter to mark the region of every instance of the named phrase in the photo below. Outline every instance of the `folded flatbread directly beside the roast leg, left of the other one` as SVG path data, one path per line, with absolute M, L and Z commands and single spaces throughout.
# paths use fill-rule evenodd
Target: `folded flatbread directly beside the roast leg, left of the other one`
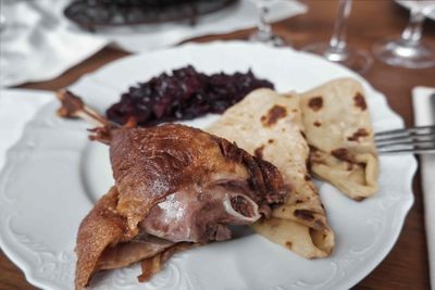
M 254 90 L 207 130 L 271 162 L 294 188 L 287 202 L 273 211 L 275 218 L 257 223 L 253 228 L 304 257 L 330 255 L 334 234 L 307 171 L 309 148 L 301 133 L 298 97 Z

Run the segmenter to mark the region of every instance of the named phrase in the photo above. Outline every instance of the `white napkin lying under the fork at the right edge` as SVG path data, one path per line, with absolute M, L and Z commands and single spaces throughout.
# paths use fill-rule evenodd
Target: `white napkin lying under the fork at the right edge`
M 415 126 L 435 124 L 435 109 L 430 98 L 432 93 L 435 93 L 435 88 L 417 87 L 412 90 Z M 435 289 L 435 154 L 421 155 L 420 161 L 430 276 L 432 289 Z

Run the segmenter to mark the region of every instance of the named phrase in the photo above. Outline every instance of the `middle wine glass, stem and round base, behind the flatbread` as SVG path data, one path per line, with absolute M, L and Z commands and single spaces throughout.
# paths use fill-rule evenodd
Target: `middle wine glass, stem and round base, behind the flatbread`
M 338 16 L 330 42 L 318 42 L 301 50 L 322 55 L 331 62 L 340 63 L 350 70 L 363 74 L 373 63 L 372 56 L 364 50 L 348 47 L 346 42 L 346 23 L 350 15 L 352 1 L 339 0 Z

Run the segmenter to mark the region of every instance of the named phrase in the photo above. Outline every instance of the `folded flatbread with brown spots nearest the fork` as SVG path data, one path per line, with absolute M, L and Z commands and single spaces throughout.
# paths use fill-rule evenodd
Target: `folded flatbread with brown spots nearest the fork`
M 378 160 L 362 86 L 328 81 L 301 94 L 311 171 L 353 200 L 378 190 Z

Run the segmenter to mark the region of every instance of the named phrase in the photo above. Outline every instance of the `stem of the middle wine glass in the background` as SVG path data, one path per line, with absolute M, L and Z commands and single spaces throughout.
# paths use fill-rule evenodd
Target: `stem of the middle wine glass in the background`
M 338 17 L 334 25 L 334 33 L 330 40 L 330 50 L 336 53 L 346 50 L 346 23 L 350 15 L 352 0 L 339 0 Z

